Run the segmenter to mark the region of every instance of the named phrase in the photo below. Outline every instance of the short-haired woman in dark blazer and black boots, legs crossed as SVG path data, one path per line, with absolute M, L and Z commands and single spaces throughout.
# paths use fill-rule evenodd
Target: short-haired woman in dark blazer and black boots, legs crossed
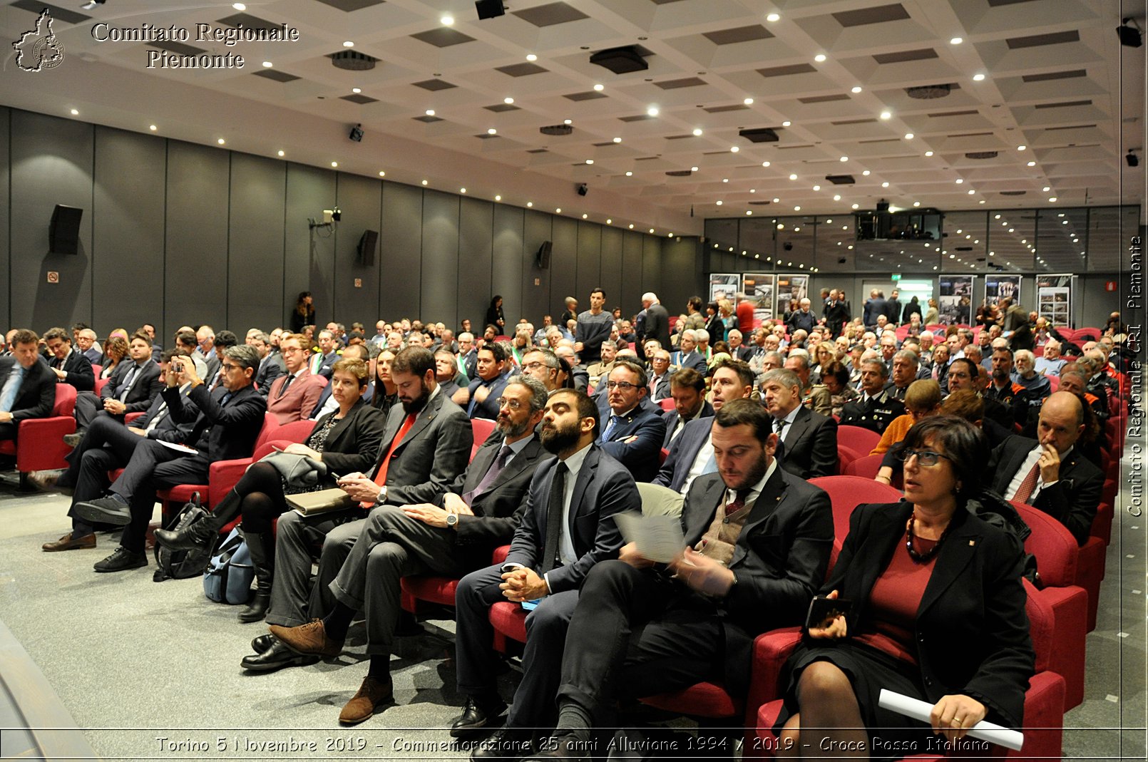
M 271 602 L 272 567 L 276 558 L 272 524 L 287 511 L 287 495 L 335 487 L 336 475 L 369 472 L 379 457 L 386 417 L 363 402 L 367 366 L 360 359 L 339 360 L 332 366 L 331 396 L 339 410 L 315 422 L 305 444 L 290 444 L 284 452 L 305 454 L 327 468 L 326 476 L 312 488 L 290 488 L 279 469 L 269 462 L 255 462 L 235 488 L 215 507 L 211 518 L 180 531 L 156 531 L 156 541 L 171 549 L 210 545 L 223 527 L 235 516 L 243 518 L 243 536 L 255 567 L 255 598 L 239 614 L 240 622 L 257 622 Z

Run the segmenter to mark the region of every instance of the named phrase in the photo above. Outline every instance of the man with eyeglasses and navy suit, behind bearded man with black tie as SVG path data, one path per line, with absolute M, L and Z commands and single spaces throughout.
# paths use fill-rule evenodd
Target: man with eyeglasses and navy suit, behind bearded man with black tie
M 658 473 L 658 453 L 666 437 L 661 410 L 642 404 L 646 383 L 645 368 L 633 359 L 615 360 L 604 383 L 610 412 L 603 419 L 599 444 L 630 469 L 636 482 L 649 482 Z

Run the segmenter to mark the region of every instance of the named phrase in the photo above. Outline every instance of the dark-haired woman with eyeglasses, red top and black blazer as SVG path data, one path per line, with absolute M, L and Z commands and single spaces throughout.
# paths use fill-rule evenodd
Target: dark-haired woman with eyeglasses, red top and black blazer
M 785 666 L 778 756 L 987 756 L 959 739 L 985 718 L 1023 725 L 1034 669 L 1024 551 L 976 513 L 984 436 L 938 415 L 909 430 L 901 453 L 905 499 L 853 511 L 822 590 L 852 608 L 809 623 Z M 929 702 L 930 721 L 879 708 L 882 689 Z

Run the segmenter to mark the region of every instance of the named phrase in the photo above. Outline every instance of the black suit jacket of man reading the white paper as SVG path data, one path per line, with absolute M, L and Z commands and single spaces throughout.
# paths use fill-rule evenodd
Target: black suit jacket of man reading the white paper
M 720 474 L 704 474 L 690 485 L 682 505 L 687 545 L 695 546 L 705 536 L 724 493 Z M 737 584 L 718 604 L 726 614 L 726 679 L 738 693 L 747 687 L 753 638 L 804 621 L 825 578 L 832 546 L 829 496 L 775 468 L 735 543 L 729 568 Z

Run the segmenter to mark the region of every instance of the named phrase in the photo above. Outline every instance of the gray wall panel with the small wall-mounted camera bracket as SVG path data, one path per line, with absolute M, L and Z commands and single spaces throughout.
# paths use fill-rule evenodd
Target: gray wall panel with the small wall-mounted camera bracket
M 290 311 L 295 309 L 300 291 L 311 291 L 315 296 L 315 319 L 320 325 L 332 319 L 328 273 L 334 266 L 335 239 L 326 228 L 310 231 L 307 220 L 323 221 L 323 210 L 329 209 L 334 199 L 335 172 L 287 163 L 287 203 L 281 228 L 284 306 L 263 318 L 269 329 L 277 325 L 290 327 Z M 267 232 L 269 236 L 274 234 L 274 231 Z

